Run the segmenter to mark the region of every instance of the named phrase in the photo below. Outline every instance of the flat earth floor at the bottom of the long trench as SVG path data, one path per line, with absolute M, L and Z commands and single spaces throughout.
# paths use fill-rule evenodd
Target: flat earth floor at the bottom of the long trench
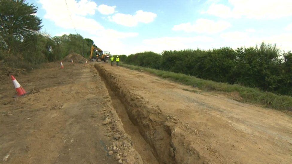
M 152 149 L 150 145 L 148 145 L 148 143 L 141 136 L 138 127 L 135 126 L 133 122 L 129 119 L 123 103 L 120 101 L 118 96 L 116 96 L 115 93 L 110 89 L 110 87 L 107 85 L 107 82 L 103 79 L 103 77 L 101 77 L 101 80 L 105 83 L 107 90 L 109 92 L 109 96 L 112 99 L 113 108 L 115 109 L 119 118 L 123 122 L 125 132 L 131 136 L 133 146 L 142 157 L 143 163 L 159 164 L 159 162 L 156 160 L 155 156 L 151 151 Z

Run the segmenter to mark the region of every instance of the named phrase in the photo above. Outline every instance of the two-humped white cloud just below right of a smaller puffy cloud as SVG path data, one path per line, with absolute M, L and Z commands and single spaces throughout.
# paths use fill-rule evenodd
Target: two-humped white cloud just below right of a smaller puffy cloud
M 135 15 L 116 13 L 110 20 L 128 27 L 136 26 L 139 22 L 150 23 L 156 18 L 155 13 L 145 12 L 143 10 L 136 11 Z

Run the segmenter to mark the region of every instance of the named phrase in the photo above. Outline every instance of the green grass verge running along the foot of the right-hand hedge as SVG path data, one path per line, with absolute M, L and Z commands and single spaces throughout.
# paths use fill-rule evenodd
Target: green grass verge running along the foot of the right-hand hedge
M 175 82 L 180 82 L 185 85 L 191 85 L 199 88 L 202 91 L 219 91 L 219 92 L 238 92 L 241 96 L 240 102 L 248 102 L 252 104 L 263 105 L 267 108 L 277 110 L 292 110 L 292 97 L 277 95 L 270 92 L 264 92 L 258 88 L 248 88 L 237 84 L 227 84 L 203 80 L 194 76 L 188 76 L 181 73 L 156 70 L 152 68 L 139 67 L 121 63 L 121 66 L 132 70 L 143 70 L 152 73 L 156 76 L 171 79 Z

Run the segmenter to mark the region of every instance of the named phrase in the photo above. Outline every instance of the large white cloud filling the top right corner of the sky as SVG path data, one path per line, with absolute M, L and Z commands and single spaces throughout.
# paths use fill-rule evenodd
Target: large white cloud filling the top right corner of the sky
M 229 0 L 232 9 L 224 4 L 212 3 L 208 13 L 221 18 L 240 18 L 242 16 L 250 19 L 276 19 L 292 15 L 291 0 Z

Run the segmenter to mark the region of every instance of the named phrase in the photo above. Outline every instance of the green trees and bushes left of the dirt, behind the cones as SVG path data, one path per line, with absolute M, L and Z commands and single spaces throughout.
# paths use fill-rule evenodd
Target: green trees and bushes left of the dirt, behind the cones
M 94 45 L 91 39 L 79 34 L 50 36 L 40 32 L 42 20 L 36 16 L 33 4 L 1 0 L 0 5 L 0 59 L 9 66 L 30 69 L 32 65 L 63 59 L 69 53 L 89 56 Z

